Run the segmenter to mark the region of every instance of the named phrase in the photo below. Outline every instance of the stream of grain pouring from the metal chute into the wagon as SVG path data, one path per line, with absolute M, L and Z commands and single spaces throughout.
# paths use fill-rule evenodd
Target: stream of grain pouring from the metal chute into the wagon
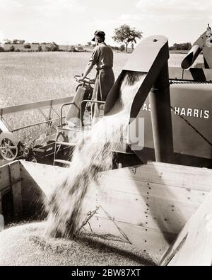
M 98 172 L 112 167 L 112 150 L 116 150 L 129 124 L 131 104 L 146 74 L 125 72 L 110 116 L 103 117 L 86 133 L 73 152 L 71 167 L 61 184 L 56 186 L 47 205 L 47 235 L 73 238 L 86 214 L 83 198 Z

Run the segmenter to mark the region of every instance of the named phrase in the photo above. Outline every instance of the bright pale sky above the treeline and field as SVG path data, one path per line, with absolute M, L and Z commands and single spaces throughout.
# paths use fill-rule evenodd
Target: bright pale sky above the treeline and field
M 199 38 L 212 26 L 212 0 L 0 0 L 0 42 L 86 44 L 95 30 L 106 43 L 114 28 L 126 23 L 143 31 L 143 38 L 165 35 L 169 44 Z

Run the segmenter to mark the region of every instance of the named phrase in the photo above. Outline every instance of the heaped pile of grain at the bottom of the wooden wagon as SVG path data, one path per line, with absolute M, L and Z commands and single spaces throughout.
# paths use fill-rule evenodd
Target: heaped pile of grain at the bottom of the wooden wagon
M 13 226 L 0 233 L 0 265 L 154 265 L 147 253 L 109 235 L 83 233 L 77 240 L 49 239 L 45 223 Z

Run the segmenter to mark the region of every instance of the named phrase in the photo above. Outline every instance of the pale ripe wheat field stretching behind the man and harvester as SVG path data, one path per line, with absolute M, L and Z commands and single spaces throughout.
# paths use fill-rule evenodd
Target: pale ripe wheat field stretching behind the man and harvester
M 90 52 L 0 52 L 0 108 L 73 95 L 77 86 L 73 76 L 83 73 L 90 55 Z M 131 54 L 114 52 L 115 77 L 130 57 Z M 179 67 L 183 57 L 171 54 L 169 65 Z M 197 62 L 202 62 L 202 57 Z M 95 69 L 89 77 L 95 78 Z M 42 114 L 30 111 L 6 116 L 11 129 L 32 121 L 43 121 Z M 37 127 L 21 130 L 18 138 L 25 139 L 32 133 L 35 138 L 41 130 Z

